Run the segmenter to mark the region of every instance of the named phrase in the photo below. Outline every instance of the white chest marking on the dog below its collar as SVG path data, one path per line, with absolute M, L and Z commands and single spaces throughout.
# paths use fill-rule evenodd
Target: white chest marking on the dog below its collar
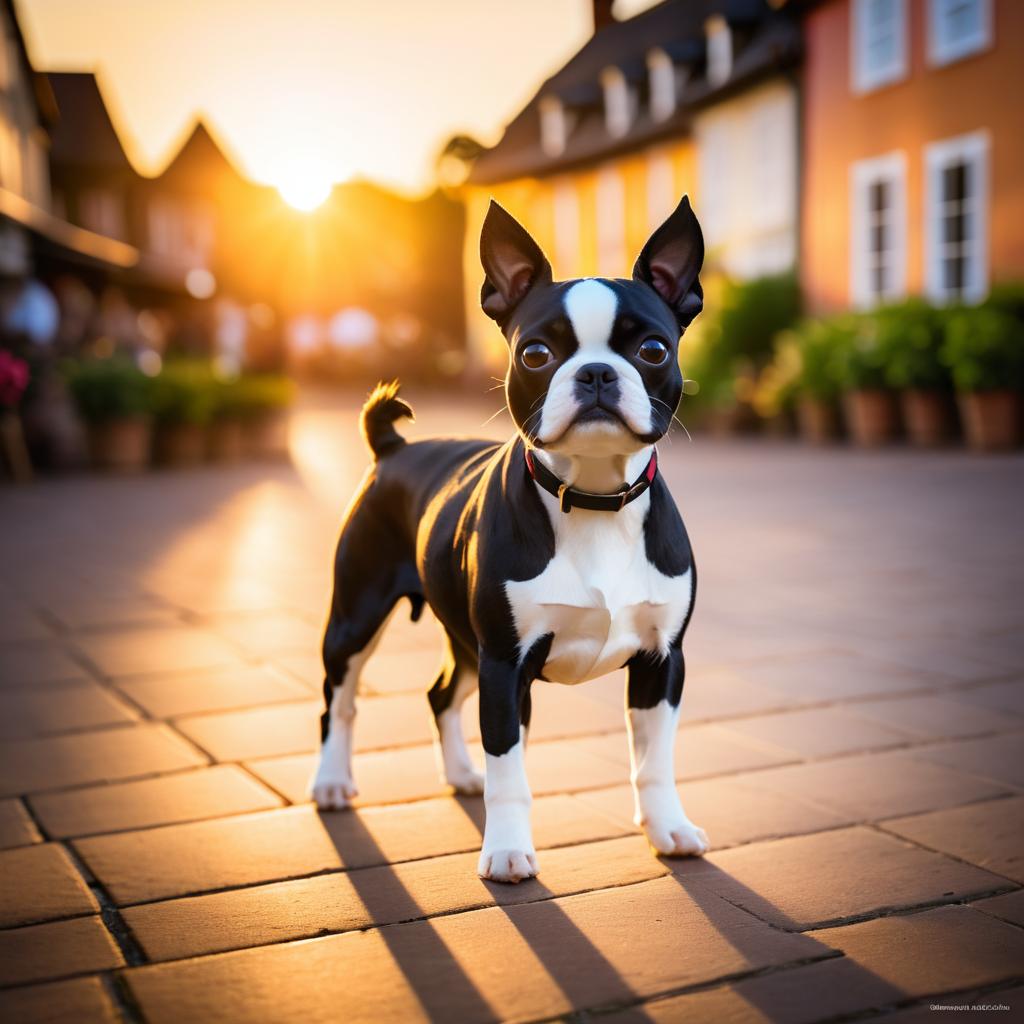
M 637 651 L 666 653 L 690 605 L 692 577 L 667 577 L 647 561 L 643 520 L 649 497 L 621 512 L 555 512 L 555 556 L 532 580 L 505 592 L 520 649 L 553 634 L 546 679 L 582 683 L 625 665 Z

